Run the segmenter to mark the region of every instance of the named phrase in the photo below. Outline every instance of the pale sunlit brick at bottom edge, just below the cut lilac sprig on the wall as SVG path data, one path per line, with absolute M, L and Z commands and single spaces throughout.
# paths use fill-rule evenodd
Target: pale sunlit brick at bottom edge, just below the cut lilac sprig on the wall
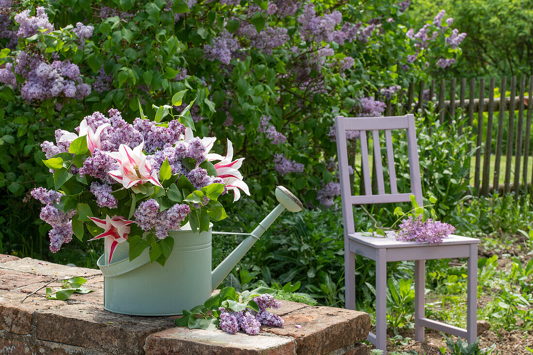
M 222 330 L 172 328 L 148 336 L 147 355 L 288 355 L 294 339 L 268 335 L 229 334 Z

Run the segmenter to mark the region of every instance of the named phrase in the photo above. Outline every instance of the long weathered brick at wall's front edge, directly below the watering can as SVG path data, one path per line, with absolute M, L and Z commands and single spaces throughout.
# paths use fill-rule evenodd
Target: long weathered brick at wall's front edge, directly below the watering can
M 96 304 L 71 304 L 37 312 L 34 324 L 39 340 L 132 355 L 144 353 L 148 335 L 175 327 L 168 317 L 116 314 Z

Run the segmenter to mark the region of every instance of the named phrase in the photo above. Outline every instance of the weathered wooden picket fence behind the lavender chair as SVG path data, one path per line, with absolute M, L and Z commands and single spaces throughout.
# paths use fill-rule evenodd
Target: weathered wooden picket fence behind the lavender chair
M 528 82 L 527 88 L 526 82 Z M 528 105 L 528 99 L 533 91 L 533 76 L 529 78 L 522 76 L 519 83 L 516 76 L 512 76 L 510 83 L 507 83 L 507 77 L 504 76 L 498 83 L 500 97 L 496 98 L 494 77 L 488 80 L 488 88 L 485 78 L 472 79 L 468 84 L 465 78 L 459 82 L 456 78 L 449 81 L 442 79 L 438 92 L 435 91 L 437 85 L 435 81 L 410 83 L 407 96 L 398 100 L 400 105 L 391 105 L 391 102 L 387 102 L 385 114 L 403 115 L 430 109 L 438 114 L 441 123 L 453 119 L 465 122 L 464 127 L 459 126 L 459 134 L 469 135 L 478 148 L 472 157 L 475 159 L 472 193 L 487 195 L 494 191 L 501 193 L 514 191 L 518 195 L 527 192 L 533 182 L 533 173 L 528 177 L 528 159 L 532 156 L 533 148 L 533 144 L 530 144 L 533 138 L 531 135 L 533 104 Z M 428 89 L 429 95 L 427 95 Z M 510 90 L 509 95 L 505 94 L 506 90 Z M 485 117 L 484 113 L 487 113 Z M 477 124 L 474 124 L 476 116 L 478 120 Z M 490 166 L 491 155 L 494 155 L 494 168 Z M 505 156 L 505 179 L 504 183 L 500 184 L 502 155 Z M 513 179 L 512 172 L 514 172 Z M 472 182 L 470 176 L 469 179 Z

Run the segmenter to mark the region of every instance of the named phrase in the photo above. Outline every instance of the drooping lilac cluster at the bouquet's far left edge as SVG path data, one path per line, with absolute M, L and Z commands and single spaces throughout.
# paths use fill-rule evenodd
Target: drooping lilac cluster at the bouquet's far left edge
M 52 190 L 46 190 L 43 187 L 34 188 L 31 191 L 33 198 L 41 201 L 45 206 L 41 209 L 39 217 L 52 226 L 49 233 L 50 237 L 50 251 L 56 253 L 63 243 L 68 243 L 72 240 L 72 222 L 71 218 L 76 215 L 76 210 L 72 209 L 66 213 L 61 212 L 53 205 L 53 202 L 58 202 L 61 194 Z

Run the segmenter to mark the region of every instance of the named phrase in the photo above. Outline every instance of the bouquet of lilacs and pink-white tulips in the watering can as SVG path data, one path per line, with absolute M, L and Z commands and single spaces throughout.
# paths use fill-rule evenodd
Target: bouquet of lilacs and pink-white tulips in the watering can
M 211 221 L 227 214 L 220 195 L 249 195 L 238 171 L 244 158 L 233 160 L 228 139 L 225 156 L 210 153 L 216 137 L 194 137 L 192 101 L 180 114 L 186 90 L 172 105 L 155 106 L 155 121 L 143 113 L 127 123 L 116 109 L 109 117 L 86 116 L 76 132 L 55 131 L 55 144 L 45 141 L 44 164 L 53 173 L 54 190 L 35 188 L 31 195 L 45 206 L 41 219 L 52 226 L 55 253 L 72 234 L 83 240 L 104 239 L 109 262 L 118 243 L 130 244 L 130 260 L 149 248 L 150 261 L 165 264 L 174 240 L 168 231 L 189 223 L 207 231 Z M 168 116 L 168 122 L 163 120 Z

